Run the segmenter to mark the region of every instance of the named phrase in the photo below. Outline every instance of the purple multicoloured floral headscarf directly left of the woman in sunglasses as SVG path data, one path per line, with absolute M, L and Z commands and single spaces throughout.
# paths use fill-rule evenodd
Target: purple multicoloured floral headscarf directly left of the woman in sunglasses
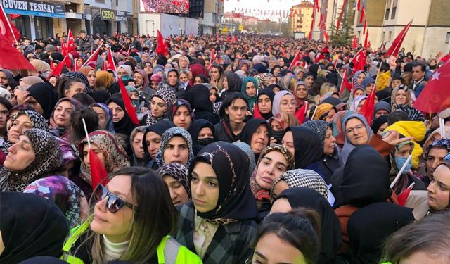
M 54 201 L 63 211 L 69 228 L 89 216 L 89 205 L 82 189 L 63 176 L 50 176 L 32 182 L 23 191 Z

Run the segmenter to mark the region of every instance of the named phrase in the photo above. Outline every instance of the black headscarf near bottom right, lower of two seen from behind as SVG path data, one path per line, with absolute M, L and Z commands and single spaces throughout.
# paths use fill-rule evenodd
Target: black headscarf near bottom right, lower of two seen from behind
M 413 209 L 395 203 L 372 203 L 356 210 L 347 223 L 352 263 L 379 263 L 383 242 L 414 221 Z

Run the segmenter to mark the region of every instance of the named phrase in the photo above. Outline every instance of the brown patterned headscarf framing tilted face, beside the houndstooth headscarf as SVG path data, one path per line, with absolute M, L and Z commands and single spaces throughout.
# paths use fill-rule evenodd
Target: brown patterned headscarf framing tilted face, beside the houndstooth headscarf
M 270 199 L 269 190 L 262 189 L 261 187 L 259 187 L 258 183 L 256 182 L 256 174 L 257 174 L 259 163 L 261 163 L 262 159 L 264 158 L 264 156 L 267 155 L 267 153 L 272 152 L 272 151 L 278 151 L 279 153 L 283 154 L 283 156 L 285 157 L 285 159 L 287 161 L 286 170 L 290 170 L 290 169 L 294 168 L 294 166 L 295 166 L 295 160 L 294 160 L 293 154 L 291 154 L 288 151 L 288 149 L 285 148 L 285 146 L 282 146 L 282 145 L 266 146 L 261 151 L 256 168 L 255 168 L 255 170 L 253 170 L 252 176 L 250 177 L 250 189 L 252 190 L 252 194 L 255 197 L 255 199 L 257 199 L 257 201 L 263 201 L 263 200 L 269 201 L 269 199 Z

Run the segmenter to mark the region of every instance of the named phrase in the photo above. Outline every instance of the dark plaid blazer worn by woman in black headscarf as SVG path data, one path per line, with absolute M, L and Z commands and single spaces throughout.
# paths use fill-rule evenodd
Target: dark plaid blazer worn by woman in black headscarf
M 176 240 L 190 251 L 196 252 L 193 242 L 195 210 L 192 201 L 181 208 Z M 221 225 L 212 237 L 205 253 L 205 264 L 241 264 L 252 257 L 250 241 L 257 232 L 255 220 L 244 220 L 229 225 Z

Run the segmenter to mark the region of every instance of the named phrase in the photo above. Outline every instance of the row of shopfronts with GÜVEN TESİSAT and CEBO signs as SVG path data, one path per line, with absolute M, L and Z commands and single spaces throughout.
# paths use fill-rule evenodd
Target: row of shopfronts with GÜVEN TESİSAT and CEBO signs
M 0 1 L 20 34 L 46 39 L 56 34 L 137 33 L 139 0 L 10 0 Z M 13 16 L 11 16 L 13 15 Z M 20 16 L 18 16 L 20 15 Z

